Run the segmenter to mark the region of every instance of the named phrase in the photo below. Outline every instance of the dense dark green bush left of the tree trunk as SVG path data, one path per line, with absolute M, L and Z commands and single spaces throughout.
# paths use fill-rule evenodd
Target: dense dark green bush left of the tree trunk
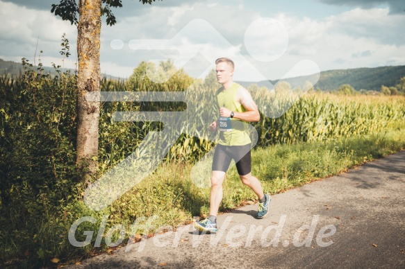
M 75 171 L 76 76 L 51 77 L 41 66 L 20 78 L 0 78 L 1 259 L 53 248 L 41 238 L 54 212 L 81 189 Z M 47 229 L 44 229 L 44 226 Z M 42 234 L 44 232 L 44 234 Z

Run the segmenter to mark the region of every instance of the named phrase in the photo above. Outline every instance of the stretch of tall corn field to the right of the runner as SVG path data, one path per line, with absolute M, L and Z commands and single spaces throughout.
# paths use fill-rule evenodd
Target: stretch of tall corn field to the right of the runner
M 263 117 L 255 127 L 259 144 L 267 146 L 370 134 L 395 127 L 404 116 L 405 98 L 307 94 L 279 118 Z

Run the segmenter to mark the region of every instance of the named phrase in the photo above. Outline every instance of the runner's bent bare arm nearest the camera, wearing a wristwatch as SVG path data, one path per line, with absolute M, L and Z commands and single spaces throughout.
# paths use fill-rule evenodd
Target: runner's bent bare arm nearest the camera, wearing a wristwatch
M 247 91 L 247 89 L 245 89 L 244 87 L 240 87 L 238 89 L 238 94 L 237 94 L 236 98 L 237 98 L 238 102 L 241 103 L 247 111 L 246 112 L 233 112 L 234 119 L 241 119 L 242 121 L 249 121 L 249 122 L 254 122 L 254 121 L 260 120 L 260 114 L 258 112 L 256 103 L 254 103 L 253 98 L 251 98 L 251 95 Z M 220 115 L 230 117 L 231 110 L 227 109 L 226 107 L 221 107 Z

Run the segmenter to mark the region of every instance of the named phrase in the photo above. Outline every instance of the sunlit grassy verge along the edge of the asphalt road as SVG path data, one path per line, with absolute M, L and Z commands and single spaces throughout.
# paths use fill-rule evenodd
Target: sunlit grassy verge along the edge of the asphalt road
M 257 148 L 252 152 L 252 173 L 261 180 L 265 192 L 279 193 L 403 150 L 404 132 L 405 124 L 395 130 L 347 139 Z M 131 234 L 130 225 L 141 216 L 147 218 L 158 216 L 154 220 L 157 229 L 164 225 L 171 227 L 184 225 L 192 221 L 192 216 L 208 214 L 210 162 L 206 162 L 203 166 L 204 169 L 201 166 L 197 171 L 199 179 L 196 181 L 190 176 L 193 164 L 165 163 L 104 211 L 91 211 L 82 201 L 72 202 L 69 207 L 42 219 L 40 222 L 42 232 L 35 235 L 37 237 L 33 242 L 34 246 L 31 245 L 30 257 L 11 264 L 14 266 L 19 264 L 22 267 L 48 266 L 51 259 L 57 258 L 60 259 L 58 263 L 60 265 L 106 251 L 108 247 L 104 238 L 101 247 L 93 248 L 103 216 L 108 216 L 104 236 L 110 227 L 123 225 L 126 238 L 131 236 L 130 240 L 136 241 L 145 231 L 140 229 L 137 234 Z M 249 200 L 255 201 L 256 197 L 249 188 L 242 185 L 235 166 L 232 166 L 226 174 L 224 199 L 220 211 L 225 212 L 245 205 Z M 91 216 L 96 221 L 82 223 L 76 231 L 77 240 L 85 239 L 84 231 L 94 233 L 91 243 L 84 248 L 75 248 L 69 243 L 67 232 L 72 223 L 83 216 Z M 156 229 L 150 229 L 146 233 L 152 236 Z M 118 237 L 119 230 L 113 233 L 111 241 L 115 242 Z M 122 243 L 126 243 L 126 240 Z M 18 256 L 16 253 L 25 251 L 22 246 L 7 245 L 8 249 L 3 250 L 8 252 L 8 257 Z

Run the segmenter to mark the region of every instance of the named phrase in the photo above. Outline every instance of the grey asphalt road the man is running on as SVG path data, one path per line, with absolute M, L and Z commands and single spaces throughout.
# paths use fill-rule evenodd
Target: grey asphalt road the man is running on
M 405 268 L 405 151 L 72 268 Z

